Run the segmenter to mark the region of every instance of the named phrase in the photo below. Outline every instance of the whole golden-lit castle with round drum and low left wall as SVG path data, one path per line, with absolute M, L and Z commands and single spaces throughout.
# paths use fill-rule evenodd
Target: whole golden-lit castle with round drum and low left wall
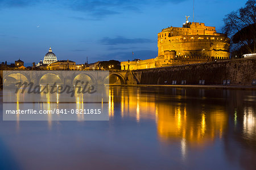
M 189 22 L 158 33 L 158 56 L 154 59 L 123 61 L 122 70 L 168 67 L 229 59 L 229 38 L 215 27 Z

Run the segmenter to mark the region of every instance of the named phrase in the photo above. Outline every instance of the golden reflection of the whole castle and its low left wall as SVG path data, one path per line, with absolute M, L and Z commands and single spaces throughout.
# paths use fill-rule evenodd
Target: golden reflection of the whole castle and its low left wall
M 109 91 L 109 115 L 113 115 L 114 88 Z M 179 96 L 177 99 L 182 98 Z M 188 144 L 204 146 L 215 138 L 222 138 L 228 126 L 224 107 L 205 111 L 205 106 L 191 109 L 192 106 L 189 108 L 186 103 L 171 103 L 168 99 L 167 102 L 159 102 L 155 96 L 141 93 L 140 88 L 127 89 L 127 92 L 121 90 L 119 99 L 121 117 L 135 118 L 137 122 L 155 119 L 159 140 L 167 143 L 180 140 L 183 155 Z

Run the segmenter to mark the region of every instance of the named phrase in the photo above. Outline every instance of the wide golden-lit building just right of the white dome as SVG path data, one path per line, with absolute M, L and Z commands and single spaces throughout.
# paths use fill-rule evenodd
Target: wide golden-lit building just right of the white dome
M 51 70 L 76 70 L 77 65 L 76 62 L 70 60 L 60 60 L 56 61 L 52 64 L 49 64 L 47 69 Z

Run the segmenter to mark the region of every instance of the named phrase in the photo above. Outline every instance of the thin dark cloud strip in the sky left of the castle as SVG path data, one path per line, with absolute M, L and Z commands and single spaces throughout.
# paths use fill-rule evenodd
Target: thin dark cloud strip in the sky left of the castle
M 144 38 L 128 39 L 123 36 L 117 36 L 116 38 L 105 37 L 100 40 L 101 44 L 105 45 L 117 45 L 117 44 L 137 44 L 137 43 L 153 43 L 154 41 Z

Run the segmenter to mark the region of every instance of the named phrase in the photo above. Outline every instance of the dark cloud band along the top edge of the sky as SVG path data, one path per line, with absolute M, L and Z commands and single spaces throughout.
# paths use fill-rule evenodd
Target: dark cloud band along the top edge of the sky
M 187 0 L 0 0 L 1 7 L 27 7 L 31 5 L 49 4 L 56 7 L 65 7 L 74 11 L 87 13 L 94 19 L 102 19 L 108 15 L 121 14 L 126 11 L 140 11 L 144 6 L 162 6 L 167 3 L 181 3 Z M 79 19 L 79 18 L 76 18 Z M 80 18 L 82 19 L 82 18 Z

